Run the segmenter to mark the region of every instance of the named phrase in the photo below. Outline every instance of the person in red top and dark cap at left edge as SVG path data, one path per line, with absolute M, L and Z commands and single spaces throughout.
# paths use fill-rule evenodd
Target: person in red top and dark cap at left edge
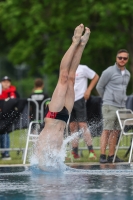
M 0 94 L 0 100 L 8 98 L 18 98 L 19 94 L 16 91 L 16 87 L 11 85 L 11 79 L 8 76 L 4 76 L 1 79 L 2 92 Z M 9 148 L 10 147 L 10 137 L 9 133 L 0 134 L 0 148 Z M 9 151 L 3 151 L 1 153 L 2 160 L 11 160 Z

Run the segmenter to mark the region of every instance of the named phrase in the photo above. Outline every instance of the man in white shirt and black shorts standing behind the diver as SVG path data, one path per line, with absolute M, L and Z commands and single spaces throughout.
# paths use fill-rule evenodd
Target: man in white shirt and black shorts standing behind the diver
M 88 88 L 88 79 L 91 80 Z M 87 111 L 86 100 L 89 99 L 92 89 L 95 87 L 99 76 L 92 69 L 86 65 L 79 65 L 76 70 L 75 76 L 75 102 L 70 118 L 70 131 L 71 133 L 77 132 L 82 129 L 84 140 L 88 146 L 89 159 L 96 159 L 96 155 L 92 146 L 92 138 L 87 124 Z M 78 155 L 78 138 L 72 142 L 72 154 L 75 159 L 79 158 Z

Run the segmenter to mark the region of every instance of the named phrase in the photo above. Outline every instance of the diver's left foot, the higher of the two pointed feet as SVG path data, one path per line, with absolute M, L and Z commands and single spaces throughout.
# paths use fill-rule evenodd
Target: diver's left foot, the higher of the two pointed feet
M 83 31 L 84 31 L 84 25 L 83 24 L 80 24 L 79 26 L 77 26 L 75 28 L 74 35 L 72 37 L 72 41 L 73 41 L 74 44 L 78 45 L 80 43 Z

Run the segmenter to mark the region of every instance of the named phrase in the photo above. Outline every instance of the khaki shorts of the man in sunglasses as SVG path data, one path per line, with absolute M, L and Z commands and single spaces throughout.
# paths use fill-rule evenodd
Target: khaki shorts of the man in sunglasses
M 118 108 L 109 105 L 102 106 L 102 115 L 103 115 L 103 130 L 120 130 L 120 125 L 116 115 Z

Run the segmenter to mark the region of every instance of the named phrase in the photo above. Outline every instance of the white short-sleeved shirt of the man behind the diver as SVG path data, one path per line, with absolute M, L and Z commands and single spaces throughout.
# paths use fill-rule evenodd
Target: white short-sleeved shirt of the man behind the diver
M 74 91 L 75 91 L 75 101 L 81 99 L 84 96 L 85 91 L 88 87 L 88 79 L 93 79 L 96 72 L 90 69 L 86 65 L 79 65 L 76 70 L 75 76 L 75 84 L 74 84 Z

